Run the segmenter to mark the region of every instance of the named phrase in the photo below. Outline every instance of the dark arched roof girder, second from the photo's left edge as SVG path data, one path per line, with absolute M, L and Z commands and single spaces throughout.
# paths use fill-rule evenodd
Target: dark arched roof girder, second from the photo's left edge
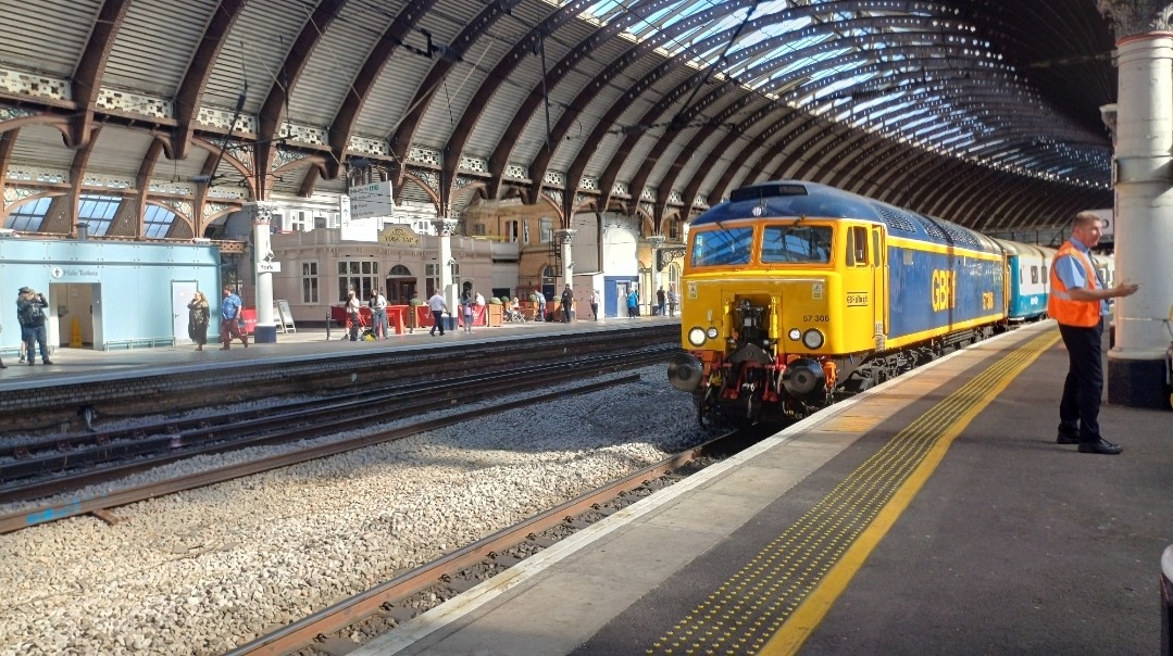
M 187 159 L 191 151 L 191 136 L 196 131 L 196 116 L 204 96 L 204 88 L 212 76 L 213 64 L 219 57 L 228 35 L 236 25 L 245 0 L 221 0 L 212 18 L 204 28 L 203 37 L 196 46 L 195 54 L 183 80 L 175 93 L 175 129 L 171 132 L 171 159 Z M 198 237 L 198 235 L 197 235 Z

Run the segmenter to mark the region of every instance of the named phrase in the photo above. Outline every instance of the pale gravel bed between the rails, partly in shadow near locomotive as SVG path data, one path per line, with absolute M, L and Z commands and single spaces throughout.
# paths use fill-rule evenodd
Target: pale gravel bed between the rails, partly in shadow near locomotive
M 0 535 L 0 655 L 221 654 L 705 439 L 663 365 L 639 374 L 117 508 L 116 526 L 81 517 Z

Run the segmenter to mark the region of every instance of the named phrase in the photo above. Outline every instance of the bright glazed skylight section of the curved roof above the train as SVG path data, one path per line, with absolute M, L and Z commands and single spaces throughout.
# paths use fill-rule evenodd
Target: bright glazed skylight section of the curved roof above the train
M 768 0 L 738 7 L 679 0 L 644 16 L 633 0 L 598 0 L 585 14 L 611 21 L 624 12 L 640 14 L 630 27 L 636 39 L 671 30 L 664 40 L 669 53 L 699 67 L 716 66 L 746 88 L 856 128 L 911 143 L 929 139 L 954 156 L 984 156 L 983 143 L 1004 151 L 1011 142 L 999 136 L 1023 121 L 1053 125 L 1052 144 L 1085 132 L 1052 111 L 951 4 Z M 712 20 L 682 25 L 700 12 L 712 12 Z M 997 96 L 1004 100 L 996 108 L 982 107 Z M 1097 166 L 1104 160 L 1092 146 L 1087 153 L 1047 153 L 1086 157 Z

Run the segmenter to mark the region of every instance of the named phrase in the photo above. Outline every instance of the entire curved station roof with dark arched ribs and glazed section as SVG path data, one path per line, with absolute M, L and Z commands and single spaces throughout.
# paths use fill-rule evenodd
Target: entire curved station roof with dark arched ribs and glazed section
M 69 233 L 107 199 L 110 235 L 202 235 L 245 201 L 377 179 L 440 217 L 497 204 L 563 225 L 617 211 L 659 226 L 780 178 L 978 230 L 1112 203 L 1113 37 L 1094 0 L 0 13 L 0 214 L 16 230 Z

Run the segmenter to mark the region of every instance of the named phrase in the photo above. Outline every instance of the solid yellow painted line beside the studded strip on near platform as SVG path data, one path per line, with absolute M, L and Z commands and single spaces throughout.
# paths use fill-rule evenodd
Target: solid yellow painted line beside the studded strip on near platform
M 990 388 L 976 403 L 974 403 L 962 416 L 950 424 L 945 432 L 941 435 L 936 444 L 929 450 L 921 464 L 914 470 L 904 483 L 896 490 L 891 499 L 884 505 L 872 524 L 860 533 L 855 542 L 847 549 L 841 559 L 827 572 L 822 581 L 802 601 L 794 613 L 786 620 L 782 628 L 774 634 L 774 637 L 762 647 L 762 656 L 781 656 L 784 654 L 796 654 L 799 648 L 811 637 L 814 629 L 819 627 L 827 611 L 839 599 L 839 595 L 847 588 L 847 585 L 855 576 L 855 573 L 863 567 L 863 562 L 872 554 L 873 549 L 883 540 L 891 526 L 904 512 L 908 505 L 920 492 L 924 483 L 933 476 L 937 465 L 944 458 L 945 452 L 952 440 L 985 409 L 995 398 L 1002 394 L 1010 383 L 1026 367 L 1035 362 L 1046 349 L 1051 348 L 1059 335 L 1047 332 L 1032 340 L 1028 348 L 1033 350 L 1028 357 L 1016 367 L 1003 374 L 995 387 Z M 945 401 L 948 402 L 948 399 Z M 943 403 L 945 403 L 943 402 Z

